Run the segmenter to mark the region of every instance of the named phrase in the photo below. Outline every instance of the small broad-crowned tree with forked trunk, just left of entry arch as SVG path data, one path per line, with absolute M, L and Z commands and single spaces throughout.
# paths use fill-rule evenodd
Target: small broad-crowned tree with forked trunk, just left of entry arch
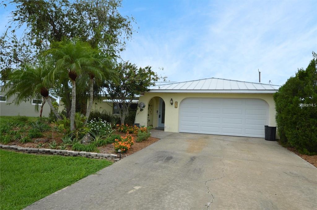
M 161 77 L 150 66 L 138 68 L 129 62 L 117 64 L 115 71 L 118 72 L 117 82 L 107 81 L 106 94 L 119 109 L 121 124 L 124 124 L 133 98 L 154 86 Z

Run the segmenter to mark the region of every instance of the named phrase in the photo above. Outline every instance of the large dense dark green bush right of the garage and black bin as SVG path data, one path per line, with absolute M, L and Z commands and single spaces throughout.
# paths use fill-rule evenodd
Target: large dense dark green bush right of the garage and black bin
M 274 101 L 281 143 L 304 154 L 317 154 L 316 58 L 281 86 Z

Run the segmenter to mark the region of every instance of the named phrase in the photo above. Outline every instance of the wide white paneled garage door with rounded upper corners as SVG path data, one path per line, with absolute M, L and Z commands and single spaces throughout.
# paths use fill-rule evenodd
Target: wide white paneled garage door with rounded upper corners
M 179 132 L 264 138 L 268 104 L 261 99 L 186 98 Z

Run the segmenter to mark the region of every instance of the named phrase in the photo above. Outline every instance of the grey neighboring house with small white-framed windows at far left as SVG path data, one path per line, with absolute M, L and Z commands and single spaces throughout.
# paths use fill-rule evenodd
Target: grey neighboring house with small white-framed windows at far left
M 32 99 L 32 101 L 21 102 L 19 106 L 16 106 L 13 102 L 14 97 L 7 98 L 5 96 L 6 91 L 3 90 L 3 85 L 0 85 L 0 115 L 1 116 L 29 116 L 38 117 L 40 116 L 40 110 L 42 105 L 41 99 Z M 52 100 L 57 100 L 55 96 L 50 96 Z M 35 105 L 39 104 L 39 111 L 35 111 Z M 43 117 L 48 117 L 50 112 L 50 107 L 48 103 L 43 106 Z

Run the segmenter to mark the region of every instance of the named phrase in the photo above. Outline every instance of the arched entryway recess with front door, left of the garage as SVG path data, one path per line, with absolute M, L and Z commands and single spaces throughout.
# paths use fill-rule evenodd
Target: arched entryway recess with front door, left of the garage
M 148 104 L 147 126 L 156 129 L 164 129 L 165 102 L 161 97 L 153 97 Z

